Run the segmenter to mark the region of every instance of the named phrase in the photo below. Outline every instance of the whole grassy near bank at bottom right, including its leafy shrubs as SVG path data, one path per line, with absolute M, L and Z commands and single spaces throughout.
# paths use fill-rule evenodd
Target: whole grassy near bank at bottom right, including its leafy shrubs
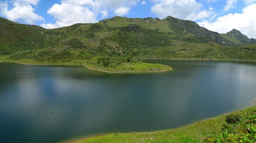
M 239 117 L 238 122 L 227 122 L 230 115 Z M 86 136 L 65 142 L 255 142 L 255 128 L 256 106 L 253 106 L 176 129 Z

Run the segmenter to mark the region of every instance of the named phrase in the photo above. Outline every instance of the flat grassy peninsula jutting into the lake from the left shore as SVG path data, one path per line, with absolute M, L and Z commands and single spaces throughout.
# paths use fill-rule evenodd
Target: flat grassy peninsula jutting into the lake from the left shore
M 18 64 L 34 64 L 34 65 L 82 65 L 91 70 L 97 70 L 108 73 L 126 73 L 126 72 L 163 72 L 172 70 L 171 67 L 154 64 L 143 63 L 136 60 L 127 61 L 125 58 L 102 58 L 93 57 L 88 60 L 66 60 L 66 61 L 35 61 L 33 59 L 9 59 L 8 55 L 0 55 L 0 62 L 13 62 Z

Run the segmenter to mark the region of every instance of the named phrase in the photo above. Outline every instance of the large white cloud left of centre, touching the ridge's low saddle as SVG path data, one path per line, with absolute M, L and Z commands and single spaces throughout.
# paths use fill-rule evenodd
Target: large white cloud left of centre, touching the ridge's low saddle
M 61 4 L 53 5 L 47 12 L 54 17 L 56 23 L 44 23 L 41 26 L 56 28 L 74 23 L 94 23 L 97 22 L 97 17 L 105 18 L 110 13 L 123 16 L 139 2 L 140 0 L 61 0 Z

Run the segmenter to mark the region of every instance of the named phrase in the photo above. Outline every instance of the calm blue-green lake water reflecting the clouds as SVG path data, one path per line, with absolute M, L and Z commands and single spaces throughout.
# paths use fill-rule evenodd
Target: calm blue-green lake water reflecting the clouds
M 0 63 L 0 142 L 176 128 L 254 105 L 256 63 L 147 60 L 163 73 Z

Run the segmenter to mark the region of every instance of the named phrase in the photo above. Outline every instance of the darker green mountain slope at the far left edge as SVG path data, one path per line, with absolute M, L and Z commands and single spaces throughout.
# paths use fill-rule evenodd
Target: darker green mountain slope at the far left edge
M 40 26 L 19 24 L 0 17 L 0 54 L 45 48 L 48 43 L 42 30 L 44 28 Z

